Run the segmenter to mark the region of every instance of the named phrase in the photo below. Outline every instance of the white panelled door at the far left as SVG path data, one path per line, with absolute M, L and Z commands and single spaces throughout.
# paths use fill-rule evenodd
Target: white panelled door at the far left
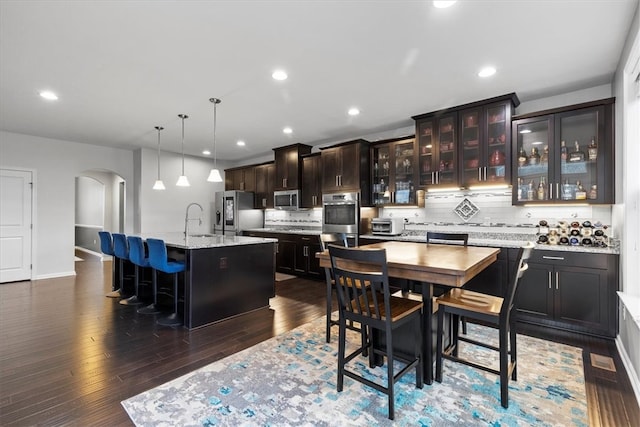
M 0 170 L 0 283 L 31 280 L 31 172 Z

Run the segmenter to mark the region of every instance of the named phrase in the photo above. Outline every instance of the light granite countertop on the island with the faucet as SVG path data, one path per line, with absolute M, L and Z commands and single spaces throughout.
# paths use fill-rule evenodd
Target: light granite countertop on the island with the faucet
M 180 249 L 207 249 L 221 248 L 225 246 L 256 245 L 262 243 L 276 243 L 278 239 L 248 237 L 248 236 L 225 236 L 222 234 L 194 233 L 186 239 L 184 233 L 153 233 L 145 234 L 142 238 L 162 239 L 167 246 Z

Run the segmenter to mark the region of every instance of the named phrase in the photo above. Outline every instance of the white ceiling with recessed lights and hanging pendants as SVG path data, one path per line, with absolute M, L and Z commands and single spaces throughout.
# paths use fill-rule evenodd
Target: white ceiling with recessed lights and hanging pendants
M 509 92 L 527 101 L 611 83 L 638 6 L 431 3 L 1 0 L 0 129 L 155 149 L 162 125 L 163 149 L 180 152 L 186 113 L 185 151 L 201 156 L 218 97 L 219 159 L 346 141 Z M 478 78 L 487 64 L 497 74 Z M 289 79 L 274 81 L 276 68 Z

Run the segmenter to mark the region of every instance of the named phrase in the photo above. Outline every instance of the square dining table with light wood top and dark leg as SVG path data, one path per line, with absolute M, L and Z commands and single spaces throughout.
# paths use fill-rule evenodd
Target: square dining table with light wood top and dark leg
M 433 382 L 433 290 L 435 285 L 462 287 L 498 258 L 500 249 L 480 246 L 384 241 L 357 246 L 384 249 L 389 277 L 419 282 L 423 302 L 424 381 Z M 318 252 L 321 267 L 331 268 L 329 251 Z M 407 289 L 403 289 L 407 291 Z M 406 293 L 406 292 L 403 292 Z M 395 347 L 395 346 L 394 346 Z

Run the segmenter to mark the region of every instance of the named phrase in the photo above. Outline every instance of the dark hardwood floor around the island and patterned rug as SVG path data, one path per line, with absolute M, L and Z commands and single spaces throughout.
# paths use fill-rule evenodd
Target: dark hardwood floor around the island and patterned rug
M 106 298 L 111 263 L 85 253 L 77 276 L 0 285 L 0 425 L 132 425 L 120 401 L 324 315 L 324 282 L 276 284 L 270 309 L 188 331 Z M 524 326 L 582 347 L 590 424 L 638 426 L 613 341 Z M 610 356 L 617 372 L 592 367 Z

